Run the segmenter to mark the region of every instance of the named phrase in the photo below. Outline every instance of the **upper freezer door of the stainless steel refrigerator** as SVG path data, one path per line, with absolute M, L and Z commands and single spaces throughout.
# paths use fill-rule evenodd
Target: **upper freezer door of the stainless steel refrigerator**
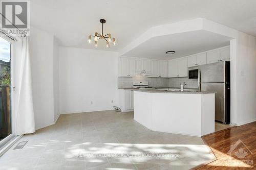
M 199 66 L 201 83 L 223 83 L 225 82 L 226 62 L 218 62 Z

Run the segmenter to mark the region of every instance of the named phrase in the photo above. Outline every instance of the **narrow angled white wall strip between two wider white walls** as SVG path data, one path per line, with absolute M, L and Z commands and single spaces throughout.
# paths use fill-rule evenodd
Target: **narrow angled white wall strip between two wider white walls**
M 54 98 L 54 122 L 59 117 L 59 44 L 53 39 L 53 98 Z

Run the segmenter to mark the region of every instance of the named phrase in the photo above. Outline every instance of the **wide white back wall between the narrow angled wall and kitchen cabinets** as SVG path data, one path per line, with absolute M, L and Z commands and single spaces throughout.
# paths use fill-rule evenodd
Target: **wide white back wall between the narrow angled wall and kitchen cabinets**
M 117 71 L 116 52 L 60 47 L 60 113 L 110 110 L 118 106 Z

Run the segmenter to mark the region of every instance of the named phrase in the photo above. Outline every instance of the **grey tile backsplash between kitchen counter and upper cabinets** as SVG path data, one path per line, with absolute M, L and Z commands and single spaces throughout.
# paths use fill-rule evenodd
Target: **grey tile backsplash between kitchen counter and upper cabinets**
M 180 88 L 180 84 L 186 82 L 185 88 L 198 88 L 197 80 L 189 80 L 184 78 L 147 78 L 146 76 L 136 77 L 119 77 L 118 87 L 130 88 L 133 87 L 133 82 L 147 81 L 150 87 L 177 87 Z

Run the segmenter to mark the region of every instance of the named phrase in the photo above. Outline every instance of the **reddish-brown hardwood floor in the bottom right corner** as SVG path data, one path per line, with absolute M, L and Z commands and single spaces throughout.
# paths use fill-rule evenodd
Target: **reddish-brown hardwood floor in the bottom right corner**
M 203 136 L 217 160 L 198 169 L 256 169 L 256 122 Z

